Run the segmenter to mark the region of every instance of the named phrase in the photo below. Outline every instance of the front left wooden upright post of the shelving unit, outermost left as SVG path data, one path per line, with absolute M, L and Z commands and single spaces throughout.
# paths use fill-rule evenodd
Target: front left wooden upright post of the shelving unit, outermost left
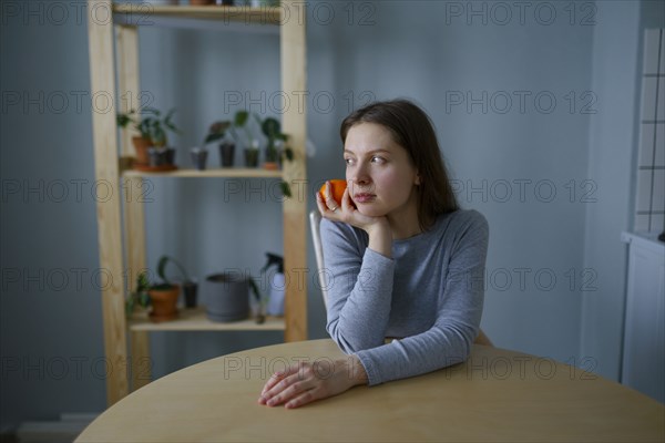
M 110 277 L 102 286 L 102 313 L 106 403 L 112 405 L 129 393 L 129 382 L 111 0 L 88 0 L 86 16 L 95 179 L 109 190 L 98 198 L 96 215 L 100 268 Z

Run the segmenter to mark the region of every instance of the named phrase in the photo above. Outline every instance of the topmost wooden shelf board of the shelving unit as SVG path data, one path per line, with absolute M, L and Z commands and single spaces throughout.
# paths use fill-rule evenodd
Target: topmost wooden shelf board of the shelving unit
M 270 24 L 282 23 L 280 7 L 191 7 L 191 6 L 155 6 L 149 3 L 114 3 L 113 13 L 115 20 L 122 20 L 136 25 L 154 24 L 151 19 L 180 18 L 203 19 L 223 22 L 235 22 L 244 24 Z

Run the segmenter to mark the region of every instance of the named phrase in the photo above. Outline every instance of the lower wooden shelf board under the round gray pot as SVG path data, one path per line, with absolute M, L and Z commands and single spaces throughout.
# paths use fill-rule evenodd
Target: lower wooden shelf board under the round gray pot
M 284 317 L 266 317 L 266 321 L 257 324 L 254 319 L 219 323 L 208 320 L 205 308 L 178 309 L 178 318 L 173 321 L 155 323 L 147 312 L 135 313 L 129 320 L 131 331 L 284 331 Z

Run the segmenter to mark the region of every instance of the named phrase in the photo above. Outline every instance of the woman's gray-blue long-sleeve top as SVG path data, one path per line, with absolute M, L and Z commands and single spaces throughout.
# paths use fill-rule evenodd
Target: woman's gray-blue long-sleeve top
M 328 276 L 326 329 L 362 363 L 369 384 L 464 361 L 479 331 L 489 227 L 475 210 L 440 215 L 433 227 L 392 240 L 392 258 L 369 249 L 362 229 L 320 225 Z M 400 338 L 385 344 L 385 339 Z

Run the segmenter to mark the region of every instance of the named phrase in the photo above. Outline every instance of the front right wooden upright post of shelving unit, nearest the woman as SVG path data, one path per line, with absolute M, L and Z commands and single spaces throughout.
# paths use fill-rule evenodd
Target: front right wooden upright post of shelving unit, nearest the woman
M 291 198 L 286 198 L 284 210 L 284 265 L 287 272 L 285 297 L 286 341 L 307 340 L 307 113 L 304 97 L 307 91 L 307 48 L 305 42 L 306 14 L 301 1 L 283 0 L 279 31 L 282 61 L 282 93 L 288 97 L 283 104 L 282 124 L 290 135 L 294 161 L 284 162 L 284 181 L 290 184 Z

